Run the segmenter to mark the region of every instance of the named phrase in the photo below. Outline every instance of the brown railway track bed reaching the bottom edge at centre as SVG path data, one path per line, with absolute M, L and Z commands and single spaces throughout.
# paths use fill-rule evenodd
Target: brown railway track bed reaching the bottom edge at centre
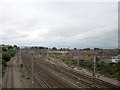
M 49 68 L 46 66 L 43 67 L 41 64 L 35 64 L 37 68 L 35 70 L 39 72 L 40 77 L 43 77 L 46 82 L 48 82 L 53 88 L 70 88 L 71 86 L 67 83 L 61 81 L 59 77 L 55 77 L 54 74 L 50 73 Z M 41 71 L 42 70 L 42 71 Z

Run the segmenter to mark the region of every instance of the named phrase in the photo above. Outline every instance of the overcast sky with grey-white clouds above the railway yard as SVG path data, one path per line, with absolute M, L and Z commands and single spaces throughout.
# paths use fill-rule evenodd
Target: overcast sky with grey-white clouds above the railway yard
M 7 2 L 0 5 L 2 44 L 116 48 L 117 2 Z

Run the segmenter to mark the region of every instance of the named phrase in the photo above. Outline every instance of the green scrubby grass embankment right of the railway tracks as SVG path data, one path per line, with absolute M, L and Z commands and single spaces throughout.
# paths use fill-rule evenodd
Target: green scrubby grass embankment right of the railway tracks
M 53 56 L 52 56 L 53 57 Z M 67 55 L 55 55 L 54 58 L 61 59 L 62 63 L 65 63 L 67 66 L 77 66 L 77 60 L 73 57 Z M 93 70 L 93 58 L 90 56 L 79 58 L 80 68 L 86 68 L 90 71 Z M 97 58 L 96 63 L 96 72 L 109 77 L 114 78 L 120 81 L 120 61 L 118 63 L 106 63 L 103 60 Z

